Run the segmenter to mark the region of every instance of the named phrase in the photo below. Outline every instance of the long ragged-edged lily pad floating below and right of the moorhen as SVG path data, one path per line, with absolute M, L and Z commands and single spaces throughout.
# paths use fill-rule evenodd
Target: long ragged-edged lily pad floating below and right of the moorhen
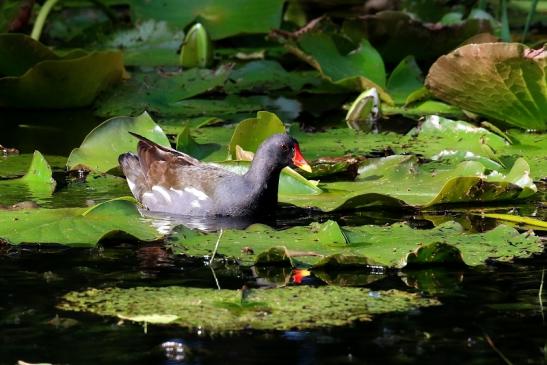
M 178 254 L 202 257 L 213 251 L 218 233 L 176 228 L 168 246 Z M 434 229 L 412 229 L 404 223 L 391 226 L 340 228 L 336 222 L 312 223 L 282 231 L 252 225 L 244 231 L 225 230 L 218 254 L 242 265 L 365 266 L 403 268 L 407 265 L 483 265 L 487 260 L 511 261 L 543 251 L 535 237 L 507 226 L 467 234 L 455 222 Z

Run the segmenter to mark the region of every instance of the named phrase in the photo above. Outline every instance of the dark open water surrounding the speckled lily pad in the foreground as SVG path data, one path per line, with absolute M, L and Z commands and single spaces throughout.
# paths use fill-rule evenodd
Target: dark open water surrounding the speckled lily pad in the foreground
M 405 271 L 369 275 L 364 280 L 373 281 L 366 285 L 373 289 L 416 291 L 405 282 L 415 285 L 425 275 L 432 284 L 422 289 L 442 301 L 439 307 L 383 315 L 343 328 L 209 335 L 153 325 L 145 332 L 139 324 L 55 308 L 65 293 L 89 287 L 216 287 L 210 268 L 174 258 L 159 246 L 4 250 L 0 256 L 2 364 L 18 360 L 62 364 L 503 363 L 487 337 L 514 364 L 547 363 L 545 308 L 538 300 L 541 270 L 547 266 L 545 254 L 514 265 Z M 290 275 L 282 268 L 262 272 L 269 272 L 266 280 L 257 279 L 251 270 L 217 268 L 215 272 L 224 289 L 260 285 L 268 275 Z M 342 274 L 366 276 L 351 272 L 331 273 L 331 277 Z M 323 284 L 313 278 L 308 282 Z

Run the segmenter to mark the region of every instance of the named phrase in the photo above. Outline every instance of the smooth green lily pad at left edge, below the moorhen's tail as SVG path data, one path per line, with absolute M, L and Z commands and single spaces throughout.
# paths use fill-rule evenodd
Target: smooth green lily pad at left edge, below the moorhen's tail
M 10 244 L 94 247 L 120 232 L 142 241 L 161 235 L 141 217 L 133 199 L 115 199 L 92 208 L 0 211 L 0 238 Z

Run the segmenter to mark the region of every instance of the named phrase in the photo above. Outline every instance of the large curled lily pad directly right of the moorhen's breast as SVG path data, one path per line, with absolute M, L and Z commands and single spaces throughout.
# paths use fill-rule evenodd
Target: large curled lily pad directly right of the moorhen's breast
M 523 199 L 537 191 L 524 159 L 511 170 L 488 169 L 478 161 L 456 166 L 442 162 L 420 164 L 412 155 L 371 159 L 359 169 L 355 181 L 319 184 L 324 192 L 282 201 L 324 211 L 370 206 L 429 207 L 447 203 L 490 202 Z

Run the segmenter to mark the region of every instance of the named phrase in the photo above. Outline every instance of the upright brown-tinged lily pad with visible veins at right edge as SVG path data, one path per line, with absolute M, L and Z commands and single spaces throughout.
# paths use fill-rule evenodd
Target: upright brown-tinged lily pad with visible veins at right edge
M 439 58 L 426 85 L 462 109 L 523 129 L 547 129 L 547 52 L 518 43 L 469 44 Z

